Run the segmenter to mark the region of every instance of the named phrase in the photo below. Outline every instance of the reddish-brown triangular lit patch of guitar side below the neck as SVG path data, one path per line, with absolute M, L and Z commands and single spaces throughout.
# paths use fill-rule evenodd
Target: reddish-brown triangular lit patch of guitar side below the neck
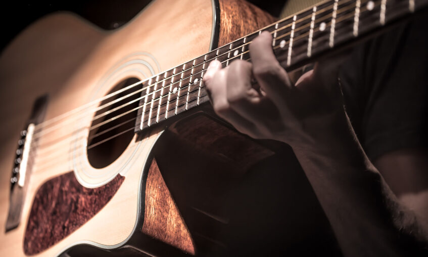
M 195 255 L 187 226 L 172 199 L 156 160 L 153 159 L 146 183 L 144 224 L 141 231 Z

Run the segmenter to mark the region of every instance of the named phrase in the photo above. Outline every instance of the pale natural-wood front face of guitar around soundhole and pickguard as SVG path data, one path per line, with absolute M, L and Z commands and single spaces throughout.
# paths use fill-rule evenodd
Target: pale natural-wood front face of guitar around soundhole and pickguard
M 134 59 L 151 61 L 150 54 L 160 67 L 158 71 L 152 61 L 155 72 L 160 72 L 207 53 L 212 20 L 208 0 L 157 0 L 114 31 L 103 31 L 76 15 L 55 13 L 29 26 L 4 50 L 0 83 L 6 86 L 0 87 L 0 118 L 7 122 L 0 124 L 0 256 L 25 256 L 24 234 L 38 188 L 70 170 L 79 175 L 80 184 L 93 188 L 107 184 L 118 173 L 125 180 L 101 211 L 36 256 L 56 256 L 82 241 L 119 247 L 134 232 L 142 215 L 138 212 L 142 167 L 161 129 L 142 139 L 134 136 L 117 160 L 96 169 L 86 157 L 87 132 L 76 134 L 77 124 L 90 126 L 94 112 L 67 117 L 61 130 L 40 137 L 21 224 L 6 233 L 10 170 L 19 132 L 39 95 L 50 95 L 46 119 L 52 119 L 105 96 L 126 78 L 151 75 L 144 62 L 130 62 Z M 124 61 L 125 57 L 129 59 Z M 117 72 L 112 74 L 112 70 Z

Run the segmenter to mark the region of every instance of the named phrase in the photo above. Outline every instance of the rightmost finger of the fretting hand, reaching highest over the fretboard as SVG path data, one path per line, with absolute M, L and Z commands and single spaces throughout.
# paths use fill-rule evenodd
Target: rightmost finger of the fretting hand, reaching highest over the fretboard
M 253 74 L 267 96 L 279 107 L 292 89 L 287 72 L 279 65 L 272 50 L 272 36 L 264 31 L 250 44 Z

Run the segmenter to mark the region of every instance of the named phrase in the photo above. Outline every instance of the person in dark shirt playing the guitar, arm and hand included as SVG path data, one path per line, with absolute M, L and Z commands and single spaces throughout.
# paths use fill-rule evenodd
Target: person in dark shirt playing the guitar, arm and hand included
M 428 249 L 424 23 L 356 48 L 342 68 L 342 57 L 318 62 L 295 83 L 263 32 L 250 45 L 251 64 L 213 61 L 204 76 L 220 117 L 253 138 L 292 146 L 346 256 Z

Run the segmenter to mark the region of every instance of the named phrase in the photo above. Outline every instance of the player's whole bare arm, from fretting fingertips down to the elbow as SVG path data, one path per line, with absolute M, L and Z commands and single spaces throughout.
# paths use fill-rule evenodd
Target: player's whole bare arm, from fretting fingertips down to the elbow
M 242 133 L 291 145 L 345 255 L 421 250 L 424 219 L 401 205 L 362 150 L 329 64 L 291 84 L 269 33 L 250 45 L 253 64 L 210 65 L 204 82 L 217 114 Z M 331 64 L 331 62 L 330 62 Z M 251 77 L 261 87 L 253 88 Z

